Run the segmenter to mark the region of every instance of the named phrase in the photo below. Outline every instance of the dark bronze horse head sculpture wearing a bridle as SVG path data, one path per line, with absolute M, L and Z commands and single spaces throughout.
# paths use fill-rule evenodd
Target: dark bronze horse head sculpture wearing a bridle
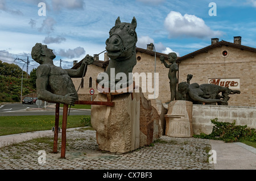
M 131 23 L 121 22 L 118 17 L 115 20 L 115 26 L 109 31 L 109 38 L 106 40 L 106 50 L 108 51 L 110 61 L 105 72 L 108 74 L 109 83 L 105 82 L 104 86 L 109 85 L 109 87 L 113 87 L 113 84 L 110 85 L 111 81 L 115 82 L 115 84 L 119 81 L 126 82 L 127 86 L 133 83 L 133 77 L 129 79 L 129 73 L 133 72 L 133 68 L 137 63 L 136 43 L 138 39 L 135 32 L 136 27 L 137 20 L 135 17 L 133 17 Z M 116 76 L 118 73 L 124 73 L 126 78 L 125 76 L 122 76 L 122 79 L 119 78 Z M 110 81 L 110 78 L 113 78 L 113 76 L 110 77 L 110 74 L 115 76 L 114 81 Z M 102 77 L 100 77 L 98 76 L 97 83 L 102 81 Z

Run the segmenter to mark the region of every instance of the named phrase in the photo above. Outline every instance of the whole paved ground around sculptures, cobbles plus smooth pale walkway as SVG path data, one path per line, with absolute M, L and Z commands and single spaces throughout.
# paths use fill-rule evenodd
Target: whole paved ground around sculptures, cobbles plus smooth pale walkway
M 154 146 L 146 146 L 126 154 L 114 154 L 98 150 L 95 131 L 71 128 L 67 129 L 69 143 L 66 159 L 59 159 L 59 153 L 53 154 L 52 148 L 43 146 L 47 151 L 46 165 L 37 163 L 37 151 L 42 149 L 42 145 L 40 148 L 36 148 L 33 143 L 4 147 L 44 136 L 53 140 L 52 131 L 0 136 L 0 169 L 256 170 L 255 148 L 241 142 L 225 143 L 199 138 L 162 136 L 162 142 L 156 142 Z M 205 152 L 207 147 L 216 151 L 217 163 L 208 162 L 208 154 Z M 14 159 L 17 154 L 19 158 Z

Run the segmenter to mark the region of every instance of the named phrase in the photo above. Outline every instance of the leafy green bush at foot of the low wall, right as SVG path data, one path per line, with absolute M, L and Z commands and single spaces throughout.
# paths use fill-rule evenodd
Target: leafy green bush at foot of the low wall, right
M 236 125 L 236 120 L 232 123 L 220 122 L 217 118 L 210 121 L 214 124 L 212 133 L 200 133 L 193 137 L 223 140 L 225 142 L 235 142 L 239 140 L 256 141 L 255 129 L 247 128 L 247 125 Z

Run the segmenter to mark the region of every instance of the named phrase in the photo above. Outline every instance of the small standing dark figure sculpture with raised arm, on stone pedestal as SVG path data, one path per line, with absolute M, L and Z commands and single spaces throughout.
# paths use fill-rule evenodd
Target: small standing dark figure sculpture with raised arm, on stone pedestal
M 164 60 L 164 56 L 160 56 L 160 61 L 163 62 L 164 66 L 169 69 L 168 78 L 170 79 L 170 90 L 171 90 L 171 101 L 176 99 L 177 94 L 177 71 L 179 70 L 176 64 L 177 54 L 172 52 L 168 54 L 168 62 L 167 64 Z M 170 103 L 167 102 L 167 103 Z

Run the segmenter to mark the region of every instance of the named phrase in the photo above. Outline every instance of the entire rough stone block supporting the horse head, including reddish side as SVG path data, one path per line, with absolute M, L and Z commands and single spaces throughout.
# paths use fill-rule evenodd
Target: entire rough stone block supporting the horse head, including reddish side
M 114 106 L 92 105 L 91 121 L 101 150 L 126 153 L 150 145 L 163 135 L 163 113 L 159 114 L 139 90 L 134 90 L 133 96 L 112 95 Z M 107 96 L 100 93 L 94 101 L 105 102 Z

